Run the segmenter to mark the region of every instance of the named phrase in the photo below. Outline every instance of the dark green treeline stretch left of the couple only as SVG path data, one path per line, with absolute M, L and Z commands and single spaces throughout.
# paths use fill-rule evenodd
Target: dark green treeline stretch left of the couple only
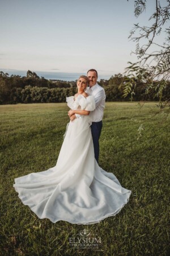
M 0 72 L 0 104 L 65 102 L 76 93 L 75 81 L 47 80 L 35 72 L 27 76 Z

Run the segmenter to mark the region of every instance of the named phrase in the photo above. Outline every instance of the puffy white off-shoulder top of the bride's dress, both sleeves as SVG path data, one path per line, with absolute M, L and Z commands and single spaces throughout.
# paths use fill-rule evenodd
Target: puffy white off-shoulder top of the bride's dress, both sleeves
M 82 94 L 79 94 L 75 100 L 74 96 L 66 97 L 66 102 L 70 109 L 95 110 L 94 96 L 84 97 Z

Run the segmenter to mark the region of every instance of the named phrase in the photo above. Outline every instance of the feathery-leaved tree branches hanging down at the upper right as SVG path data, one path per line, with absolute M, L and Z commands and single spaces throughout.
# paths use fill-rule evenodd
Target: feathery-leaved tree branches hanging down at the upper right
M 146 10 L 146 0 L 134 1 L 134 14 L 138 17 Z M 155 0 L 155 11 L 150 19 L 153 21 L 151 26 L 140 26 L 134 24 L 130 31 L 129 38 L 136 43 L 135 54 L 138 57 L 136 63 L 129 63 L 126 68 L 126 78 L 124 80 L 124 97 L 131 93 L 131 99 L 135 94 L 136 81 L 142 81 L 146 84 L 146 94 L 155 89 L 155 96 L 160 100 L 160 106 L 163 108 L 162 96 L 169 85 L 170 79 L 170 27 L 168 24 L 170 18 L 170 0 L 167 0 L 165 6 L 158 0 Z M 164 42 L 157 42 L 158 36 L 165 32 Z M 146 43 L 141 45 L 145 39 Z M 156 47 L 156 50 L 154 48 Z M 165 99 L 165 106 L 169 104 L 169 98 Z M 168 102 L 168 104 L 167 104 Z

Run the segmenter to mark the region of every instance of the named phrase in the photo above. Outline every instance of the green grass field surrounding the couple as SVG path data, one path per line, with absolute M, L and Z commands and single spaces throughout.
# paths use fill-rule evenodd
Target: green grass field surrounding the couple
M 100 137 L 100 166 L 130 189 L 129 203 L 99 224 L 40 220 L 22 204 L 14 178 L 56 165 L 69 122 L 66 104 L 0 106 L 1 255 L 168 255 L 169 118 L 155 102 L 107 102 Z M 154 115 L 156 114 L 156 115 Z M 153 117 L 152 117 L 153 115 Z M 138 138 L 138 127 L 145 129 Z M 84 228 L 101 247 L 73 249 L 69 237 Z

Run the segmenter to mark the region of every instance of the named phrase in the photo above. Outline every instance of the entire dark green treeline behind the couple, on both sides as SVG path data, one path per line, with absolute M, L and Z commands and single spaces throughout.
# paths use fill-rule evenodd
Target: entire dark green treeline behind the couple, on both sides
M 120 73 L 109 80 L 101 79 L 98 83 L 103 86 L 107 101 L 129 101 L 123 98 L 125 77 Z M 135 89 L 134 101 L 156 101 L 155 89 L 146 95 L 146 83 L 138 82 Z M 47 80 L 35 72 L 28 71 L 26 77 L 0 72 L 0 104 L 65 102 L 66 97 L 76 93 L 76 81 Z M 163 92 L 162 100 L 170 98 L 170 82 Z

